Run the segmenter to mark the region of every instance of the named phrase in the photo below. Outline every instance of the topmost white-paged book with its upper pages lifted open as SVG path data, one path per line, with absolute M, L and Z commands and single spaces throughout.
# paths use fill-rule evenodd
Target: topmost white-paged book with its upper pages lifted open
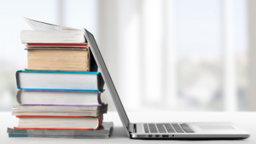
M 22 31 L 21 43 L 81 43 L 87 46 L 82 30 L 24 19 L 35 31 Z

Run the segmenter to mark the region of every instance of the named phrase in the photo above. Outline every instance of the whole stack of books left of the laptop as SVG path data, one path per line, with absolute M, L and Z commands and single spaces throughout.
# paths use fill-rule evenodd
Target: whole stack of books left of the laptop
M 22 31 L 28 67 L 16 72 L 19 118 L 9 137 L 108 138 L 112 122 L 102 122 L 104 80 L 82 30 L 25 19 Z

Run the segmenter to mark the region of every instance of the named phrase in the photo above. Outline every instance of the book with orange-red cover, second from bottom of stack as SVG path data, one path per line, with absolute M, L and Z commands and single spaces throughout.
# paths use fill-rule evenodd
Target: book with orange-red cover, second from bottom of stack
M 14 129 L 36 130 L 97 130 L 102 124 L 103 115 L 59 116 L 59 115 L 16 115 L 19 124 Z

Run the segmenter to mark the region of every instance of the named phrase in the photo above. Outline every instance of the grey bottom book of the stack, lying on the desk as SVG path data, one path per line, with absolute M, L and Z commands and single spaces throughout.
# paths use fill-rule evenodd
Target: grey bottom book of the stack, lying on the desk
M 7 129 L 9 137 L 49 137 L 49 138 L 109 138 L 113 131 L 113 122 L 103 122 L 98 130 L 17 130 Z

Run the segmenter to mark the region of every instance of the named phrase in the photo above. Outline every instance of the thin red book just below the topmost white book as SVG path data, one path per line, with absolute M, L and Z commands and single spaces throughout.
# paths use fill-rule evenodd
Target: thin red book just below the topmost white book
M 88 43 L 26 43 L 27 48 L 31 47 L 75 47 L 88 48 Z

